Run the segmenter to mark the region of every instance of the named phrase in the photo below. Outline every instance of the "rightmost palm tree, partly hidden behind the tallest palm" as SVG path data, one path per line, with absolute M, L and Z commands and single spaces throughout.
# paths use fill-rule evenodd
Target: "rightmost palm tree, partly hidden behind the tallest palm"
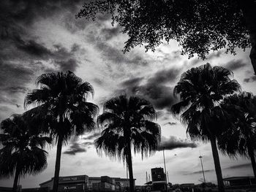
M 218 146 L 223 153 L 235 158 L 243 155 L 252 161 L 252 169 L 256 178 L 256 96 L 241 92 L 228 96 L 222 101 L 222 109 L 230 115 L 227 129 L 218 137 Z

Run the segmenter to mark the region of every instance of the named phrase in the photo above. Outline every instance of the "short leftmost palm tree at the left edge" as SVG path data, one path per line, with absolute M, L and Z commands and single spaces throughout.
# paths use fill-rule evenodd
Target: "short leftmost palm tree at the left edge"
M 48 153 L 43 150 L 50 137 L 40 137 L 21 115 L 1 122 L 0 177 L 15 175 L 12 191 L 17 191 L 20 175 L 38 174 L 47 166 Z

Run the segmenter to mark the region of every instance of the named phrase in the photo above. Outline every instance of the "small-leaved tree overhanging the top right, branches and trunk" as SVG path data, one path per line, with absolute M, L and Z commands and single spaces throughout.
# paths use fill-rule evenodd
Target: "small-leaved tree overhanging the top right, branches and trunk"
M 146 50 L 175 39 L 182 54 L 205 58 L 210 50 L 252 46 L 250 58 L 256 73 L 256 2 L 254 0 L 102 0 L 83 4 L 76 18 L 109 13 L 113 23 L 128 34 L 124 52 L 137 45 Z

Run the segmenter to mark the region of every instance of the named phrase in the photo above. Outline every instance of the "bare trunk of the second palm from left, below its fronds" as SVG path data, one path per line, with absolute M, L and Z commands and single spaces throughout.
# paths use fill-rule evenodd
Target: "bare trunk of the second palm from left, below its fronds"
M 58 191 L 59 170 L 61 168 L 61 148 L 62 148 L 62 137 L 59 135 L 59 137 L 58 137 L 58 144 L 57 144 L 55 172 L 54 172 L 54 179 L 53 179 L 53 192 L 57 192 Z

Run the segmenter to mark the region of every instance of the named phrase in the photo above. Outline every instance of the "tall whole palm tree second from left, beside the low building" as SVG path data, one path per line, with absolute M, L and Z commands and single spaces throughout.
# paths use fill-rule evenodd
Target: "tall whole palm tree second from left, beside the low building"
M 72 72 L 47 73 L 37 78 L 39 89 L 28 93 L 24 105 L 37 104 L 26 113 L 34 124 L 56 138 L 57 153 L 53 192 L 58 191 L 61 147 L 72 134 L 81 135 L 95 128 L 98 107 L 86 99 L 94 93 L 89 82 L 83 82 Z

